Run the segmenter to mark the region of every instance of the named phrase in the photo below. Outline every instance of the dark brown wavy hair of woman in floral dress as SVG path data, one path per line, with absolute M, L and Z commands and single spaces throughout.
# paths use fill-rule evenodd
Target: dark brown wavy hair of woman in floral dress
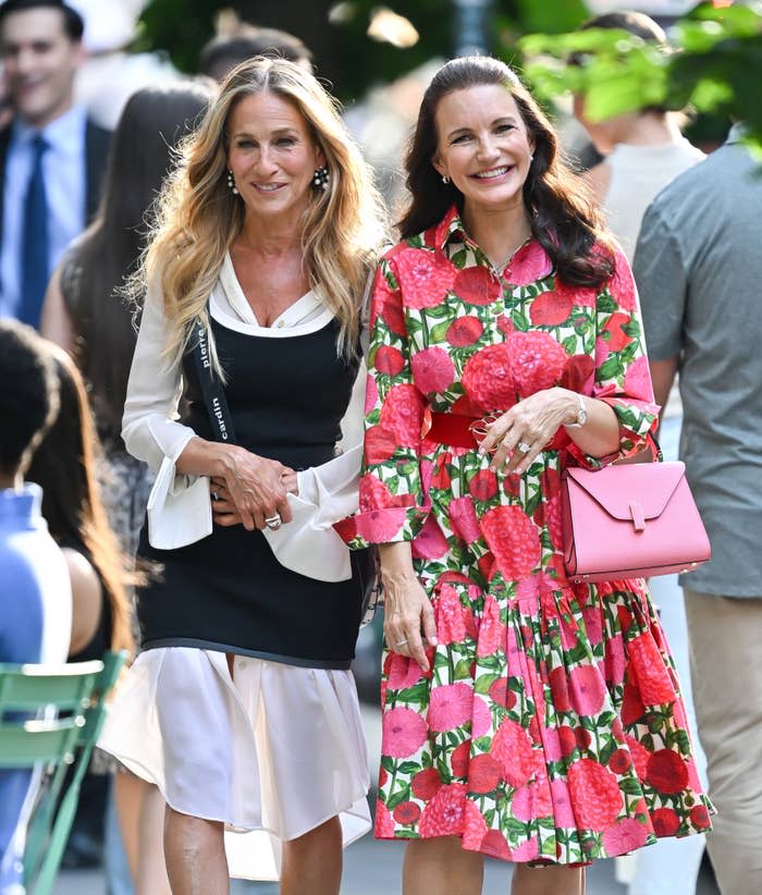
M 437 109 L 448 94 L 486 84 L 511 93 L 534 143 L 534 158 L 524 184 L 532 236 L 550 256 L 562 282 L 601 286 L 614 271 L 603 219 L 583 182 L 560 157 L 555 131 L 531 94 L 504 62 L 486 56 L 451 60 L 437 72 L 423 95 L 405 159 L 411 198 L 397 224 L 402 237 L 439 223 L 453 203 L 463 210 L 463 194 L 452 182 L 443 183 L 432 163 L 439 139 Z

